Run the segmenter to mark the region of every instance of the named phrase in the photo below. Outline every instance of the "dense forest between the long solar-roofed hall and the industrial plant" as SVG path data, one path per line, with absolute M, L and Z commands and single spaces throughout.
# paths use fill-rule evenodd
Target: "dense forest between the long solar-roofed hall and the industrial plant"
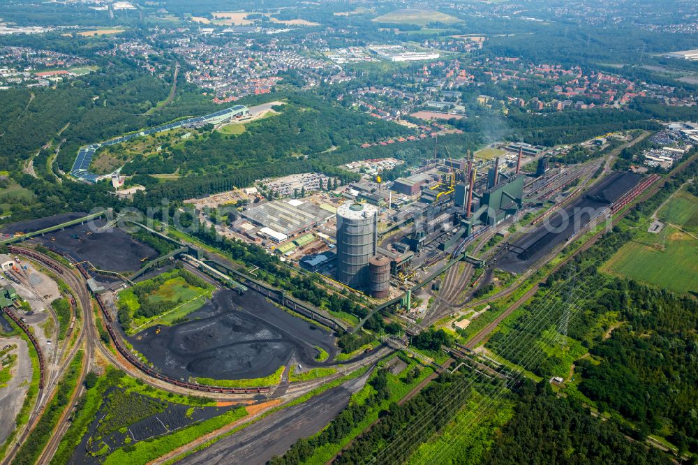
M 280 161 L 293 163 L 311 154 L 405 133 L 403 126 L 376 121 L 369 115 L 301 94 L 288 96 L 288 103 L 275 110 L 281 115 L 247 124 L 240 135 L 226 136 L 214 131 L 203 142 L 174 145 L 158 156 L 137 156 L 126 165 L 124 174 L 235 172 Z

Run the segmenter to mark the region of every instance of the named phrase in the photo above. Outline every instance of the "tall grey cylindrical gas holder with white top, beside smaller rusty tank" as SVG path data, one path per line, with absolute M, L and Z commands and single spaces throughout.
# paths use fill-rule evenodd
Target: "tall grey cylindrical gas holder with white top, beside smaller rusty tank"
M 378 209 L 346 202 L 337 209 L 337 280 L 352 288 L 369 284 L 369 259 L 376 255 Z

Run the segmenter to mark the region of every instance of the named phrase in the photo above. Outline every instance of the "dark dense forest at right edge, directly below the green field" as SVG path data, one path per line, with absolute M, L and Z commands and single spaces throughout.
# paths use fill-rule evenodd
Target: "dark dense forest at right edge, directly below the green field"
M 682 452 L 698 452 L 698 302 L 633 281 L 620 283 L 625 324 L 580 360 L 579 390 L 615 410 L 641 434 L 667 434 Z

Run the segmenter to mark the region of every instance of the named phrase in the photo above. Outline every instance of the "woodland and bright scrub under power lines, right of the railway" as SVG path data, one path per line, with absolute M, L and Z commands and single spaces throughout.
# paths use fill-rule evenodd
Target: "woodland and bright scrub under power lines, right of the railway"
M 556 334 L 569 311 L 563 340 L 571 338 L 591 355 L 574 361 L 576 376 L 581 376 L 579 392 L 599 411 L 620 413 L 630 421 L 623 427 L 639 438 L 658 434 L 682 452 L 698 450 L 698 302 L 597 268 L 632 240 L 638 222 L 697 170 L 696 163 L 689 165 L 634 207 L 621 225 L 551 274 L 517 317 L 505 322 L 506 330 L 487 342 L 498 355 L 544 379 L 567 376 L 571 361 L 562 360 L 564 352 L 554 352 L 553 346 L 559 344 Z

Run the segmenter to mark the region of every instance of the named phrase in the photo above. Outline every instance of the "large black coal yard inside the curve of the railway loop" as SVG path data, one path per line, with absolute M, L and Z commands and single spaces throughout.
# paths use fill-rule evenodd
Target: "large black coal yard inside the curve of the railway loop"
M 163 374 L 173 378 L 250 379 L 268 376 L 291 357 L 306 366 L 322 347 L 331 355 L 334 337 L 274 307 L 254 291 L 220 290 L 190 321 L 144 330 L 131 344 Z

